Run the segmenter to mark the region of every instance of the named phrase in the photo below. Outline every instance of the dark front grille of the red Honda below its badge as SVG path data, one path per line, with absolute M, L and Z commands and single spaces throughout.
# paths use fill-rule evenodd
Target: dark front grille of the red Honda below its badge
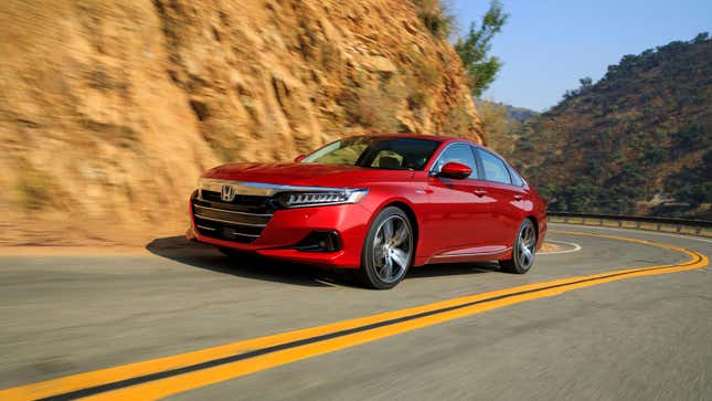
M 274 214 L 268 197 L 236 196 L 223 202 L 220 192 L 202 191 L 202 199 L 193 197 L 192 202 L 200 234 L 240 243 L 258 239 Z

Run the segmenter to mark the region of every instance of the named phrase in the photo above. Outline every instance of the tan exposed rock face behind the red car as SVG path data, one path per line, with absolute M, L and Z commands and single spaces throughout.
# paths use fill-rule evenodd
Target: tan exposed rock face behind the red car
M 0 243 L 178 234 L 206 168 L 378 131 L 481 138 L 410 1 L 0 3 Z

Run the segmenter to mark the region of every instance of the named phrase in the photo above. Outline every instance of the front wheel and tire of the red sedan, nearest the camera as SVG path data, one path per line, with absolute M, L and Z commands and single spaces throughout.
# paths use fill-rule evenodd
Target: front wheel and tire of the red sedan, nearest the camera
M 414 260 L 413 228 L 400 208 L 383 209 L 373 220 L 363 244 L 360 275 L 375 289 L 396 286 Z

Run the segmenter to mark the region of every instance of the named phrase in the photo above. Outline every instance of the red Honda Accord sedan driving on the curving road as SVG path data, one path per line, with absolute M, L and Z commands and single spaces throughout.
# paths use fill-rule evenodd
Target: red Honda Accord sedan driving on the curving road
M 359 270 L 374 288 L 426 263 L 497 260 L 523 274 L 546 232 L 544 202 L 500 156 L 416 135 L 341 139 L 290 163 L 215 167 L 190 213 L 191 240 Z

